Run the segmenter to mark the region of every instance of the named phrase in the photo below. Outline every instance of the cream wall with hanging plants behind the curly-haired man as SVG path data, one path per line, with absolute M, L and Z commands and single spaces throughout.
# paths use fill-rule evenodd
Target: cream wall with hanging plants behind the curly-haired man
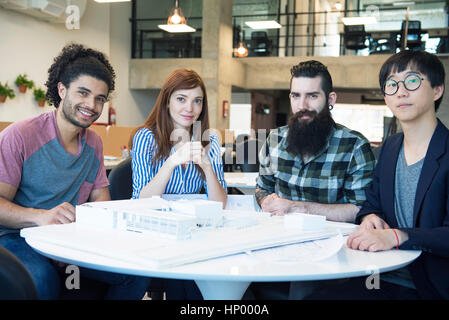
M 37 86 L 45 89 L 47 70 L 53 58 L 69 42 L 79 42 L 109 56 L 116 71 L 116 90 L 111 103 L 117 112 L 117 124 L 140 125 L 148 116 L 158 91 L 129 90 L 131 57 L 131 3 L 100 4 L 87 1 L 79 30 L 65 24 L 47 23 L 19 12 L 0 8 L 1 62 L 0 81 L 8 81 L 16 98 L 0 103 L 0 121 L 16 121 L 36 116 L 54 107 L 38 107 L 32 92 L 18 93 L 14 81 L 26 73 Z M 107 108 L 99 122 L 107 121 Z

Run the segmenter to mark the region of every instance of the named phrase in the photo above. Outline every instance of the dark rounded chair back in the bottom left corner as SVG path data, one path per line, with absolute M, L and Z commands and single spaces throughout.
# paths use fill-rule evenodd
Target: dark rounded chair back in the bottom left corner
M 36 300 L 37 289 L 23 263 L 0 246 L 0 300 Z

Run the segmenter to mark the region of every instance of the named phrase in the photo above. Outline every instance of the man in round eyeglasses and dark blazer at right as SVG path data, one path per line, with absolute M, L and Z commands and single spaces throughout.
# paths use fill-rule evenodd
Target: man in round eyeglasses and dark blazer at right
M 402 133 L 382 146 L 367 200 L 357 214 L 356 250 L 422 250 L 409 266 L 380 275 L 377 290 L 365 279 L 329 288 L 313 298 L 449 299 L 449 130 L 436 117 L 445 71 L 437 56 L 402 51 L 382 66 L 385 103 Z

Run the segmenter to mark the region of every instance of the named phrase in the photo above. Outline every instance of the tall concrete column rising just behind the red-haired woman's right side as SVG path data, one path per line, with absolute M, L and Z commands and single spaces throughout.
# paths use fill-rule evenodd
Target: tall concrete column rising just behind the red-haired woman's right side
M 202 77 L 209 102 L 210 127 L 229 127 L 222 115 L 223 101 L 231 103 L 232 0 L 203 0 Z M 207 26 L 206 28 L 204 26 Z

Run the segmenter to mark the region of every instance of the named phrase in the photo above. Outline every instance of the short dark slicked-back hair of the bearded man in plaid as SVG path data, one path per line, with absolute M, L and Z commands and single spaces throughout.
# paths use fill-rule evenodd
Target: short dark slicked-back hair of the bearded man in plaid
M 315 78 L 317 76 L 321 77 L 321 89 L 323 89 L 326 94 L 326 98 L 329 97 L 334 89 L 332 87 L 332 78 L 327 70 L 327 67 L 319 61 L 308 60 L 298 63 L 290 69 L 292 77 L 290 78 L 290 88 L 292 87 L 293 78 L 306 77 Z

